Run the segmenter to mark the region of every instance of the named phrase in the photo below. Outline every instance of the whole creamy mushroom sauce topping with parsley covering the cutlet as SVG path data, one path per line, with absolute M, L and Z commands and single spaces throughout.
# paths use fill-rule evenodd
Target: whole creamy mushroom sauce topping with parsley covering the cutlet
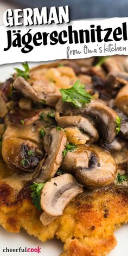
M 17 191 L 30 181 L 43 225 L 84 189 L 127 189 L 127 57 L 15 71 L 0 85 L 0 175 Z

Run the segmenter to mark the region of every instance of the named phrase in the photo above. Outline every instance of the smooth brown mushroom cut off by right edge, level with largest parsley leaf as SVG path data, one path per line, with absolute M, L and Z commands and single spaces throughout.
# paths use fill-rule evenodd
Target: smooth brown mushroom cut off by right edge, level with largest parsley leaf
M 128 116 L 128 84 L 118 92 L 115 105 Z

